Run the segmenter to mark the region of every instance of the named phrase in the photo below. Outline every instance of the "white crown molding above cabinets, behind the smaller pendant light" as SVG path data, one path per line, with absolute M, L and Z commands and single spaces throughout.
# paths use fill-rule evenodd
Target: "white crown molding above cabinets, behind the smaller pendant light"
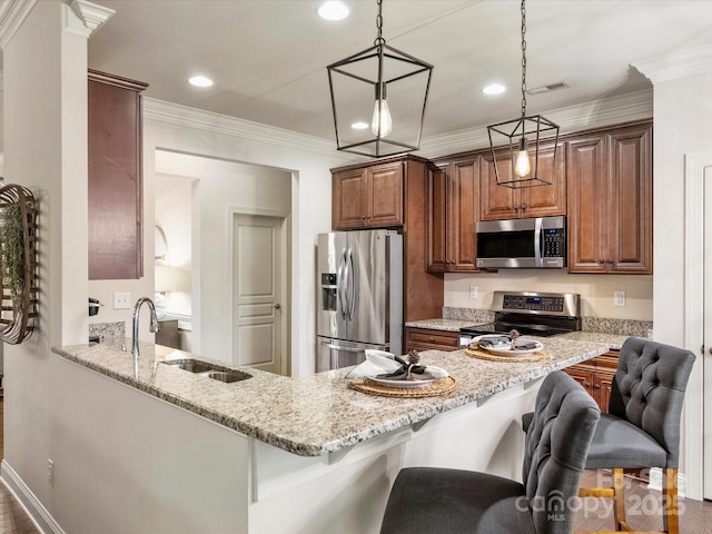
M 653 116 L 653 90 L 593 100 L 584 105 L 545 111 L 546 118 L 561 128 L 561 134 L 646 119 Z M 490 145 L 486 126 L 432 136 L 423 140 L 418 156 L 435 158 L 466 152 Z

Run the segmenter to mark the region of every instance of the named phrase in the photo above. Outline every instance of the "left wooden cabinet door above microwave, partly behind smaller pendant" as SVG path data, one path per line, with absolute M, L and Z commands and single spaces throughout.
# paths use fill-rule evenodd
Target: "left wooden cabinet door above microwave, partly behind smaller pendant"
M 516 189 L 497 186 L 492 154 L 479 158 L 479 220 L 514 219 L 520 216 L 521 195 Z M 512 176 L 510 161 L 497 154 L 500 177 L 508 180 Z

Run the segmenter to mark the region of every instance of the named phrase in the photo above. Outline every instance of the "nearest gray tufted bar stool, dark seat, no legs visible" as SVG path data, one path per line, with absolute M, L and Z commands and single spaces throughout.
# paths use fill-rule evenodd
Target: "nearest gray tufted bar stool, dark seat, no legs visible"
M 601 411 L 565 373 L 546 376 L 526 435 L 524 483 L 463 469 L 408 467 L 390 490 L 382 534 L 570 534 Z

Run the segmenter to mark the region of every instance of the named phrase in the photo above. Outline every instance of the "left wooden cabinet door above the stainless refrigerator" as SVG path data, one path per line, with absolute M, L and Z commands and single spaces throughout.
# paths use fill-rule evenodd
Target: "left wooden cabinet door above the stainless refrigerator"
M 336 172 L 332 177 L 332 228 L 366 228 L 366 172 L 364 169 Z

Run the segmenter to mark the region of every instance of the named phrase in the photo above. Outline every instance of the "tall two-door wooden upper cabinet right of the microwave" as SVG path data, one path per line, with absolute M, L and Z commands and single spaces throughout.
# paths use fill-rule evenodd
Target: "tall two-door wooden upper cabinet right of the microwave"
M 652 125 L 567 142 L 568 271 L 652 274 Z

